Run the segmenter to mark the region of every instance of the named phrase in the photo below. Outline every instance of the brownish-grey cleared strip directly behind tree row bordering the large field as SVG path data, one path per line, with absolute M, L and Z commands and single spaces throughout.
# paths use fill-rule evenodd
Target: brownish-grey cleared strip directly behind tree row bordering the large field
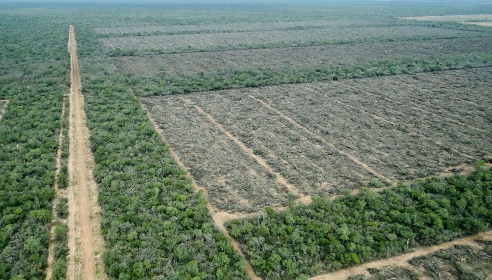
M 313 67 L 353 66 L 384 58 L 426 58 L 438 52 L 450 56 L 467 52 L 491 51 L 490 37 L 401 41 L 372 44 L 344 44 L 277 49 L 196 52 L 182 54 L 113 57 L 124 75 L 154 77 L 191 76 L 197 72 L 247 69 L 311 69 Z

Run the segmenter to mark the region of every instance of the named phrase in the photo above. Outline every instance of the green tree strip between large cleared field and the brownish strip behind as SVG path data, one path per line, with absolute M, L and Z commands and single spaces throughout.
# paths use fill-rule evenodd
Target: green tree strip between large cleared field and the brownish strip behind
M 128 77 L 139 96 L 180 94 L 209 90 L 258 87 L 272 84 L 299 84 L 349 78 L 415 74 L 441 70 L 492 65 L 492 52 L 436 55 L 428 59 L 393 58 L 366 62 L 355 66 L 333 66 L 314 69 L 249 69 L 198 72 L 190 77 L 159 73 L 154 78 Z

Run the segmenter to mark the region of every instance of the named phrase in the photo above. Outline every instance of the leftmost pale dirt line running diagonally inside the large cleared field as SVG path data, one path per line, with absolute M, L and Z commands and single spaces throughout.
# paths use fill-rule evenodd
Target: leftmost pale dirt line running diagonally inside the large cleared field
M 280 173 L 276 172 L 272 167 L 270 167 L 270 165 L 264 159 L 262 159 L 258 155 L 255 155 L 251 148 L 248 148 L 241 140 L 239 140 L 237 137 L 229 133 L 221 124 L 215 121 L 214 117 L 211 114 L 205 112 L 202 108 L 196 105 L 194 107 L 198 112 L 205 115 L 205 117 L 210 122 L 215 124 L 215 126 L 217 126 L 225 135 L 227 135 L 229 139 L 233 140 L 236 144 L 238 144 L 241 147 L 241 149 L 243 149 L 250 157 L 254 158 L 256 162 L 258 162 L 261 166 L 266 168 L 269 172 L 275 174 L 278 183 L 284 185 L 290 192 L 292 192 L 292 194 L 294 194 L 294 196 L 299 196 L 300 199 L 310 199 L 310 196 L 305 196 L 304 194 L 302 194 L 297 187 L 287 182 L 287 180 L 285 180 L 285 178 Z

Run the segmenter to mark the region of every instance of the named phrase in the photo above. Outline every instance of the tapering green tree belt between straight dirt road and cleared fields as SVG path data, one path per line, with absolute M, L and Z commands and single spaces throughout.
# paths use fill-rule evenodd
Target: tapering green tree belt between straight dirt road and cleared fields
M 216 228 L 207 200 L 172 159 L 124 78 L 94 48 L 90 31 L 76 27 L 76 32 L 84 42 L 78 44 L 79 53 L 90 54 L 79 56 L 79 63 L 107 274 L 118 279 L 247 278 L 244 259 Z

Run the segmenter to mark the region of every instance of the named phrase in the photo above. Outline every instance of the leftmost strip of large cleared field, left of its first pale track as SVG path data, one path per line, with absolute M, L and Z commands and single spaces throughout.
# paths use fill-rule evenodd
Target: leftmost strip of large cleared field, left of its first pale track
M 144 103 L 197 184 L 207 189 L 216 209 L 246 211 L 250 206 L 285 205 L 293 198 L 273 174 L 185 102 L 186 98 L 173 96 Z

